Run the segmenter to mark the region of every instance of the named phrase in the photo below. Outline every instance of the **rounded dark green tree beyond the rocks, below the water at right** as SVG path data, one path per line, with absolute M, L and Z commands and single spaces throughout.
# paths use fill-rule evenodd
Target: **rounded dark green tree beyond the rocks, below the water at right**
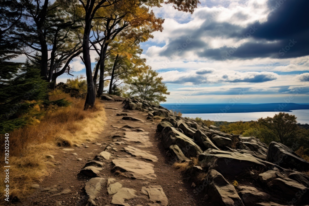
M 295 136 L 297 130 L 296 118 L 295 115 L 280 112 L 273 117 L 260 118 L 258 122 L 272 130 L 282 144 L 286 144 L 289 139 Z

